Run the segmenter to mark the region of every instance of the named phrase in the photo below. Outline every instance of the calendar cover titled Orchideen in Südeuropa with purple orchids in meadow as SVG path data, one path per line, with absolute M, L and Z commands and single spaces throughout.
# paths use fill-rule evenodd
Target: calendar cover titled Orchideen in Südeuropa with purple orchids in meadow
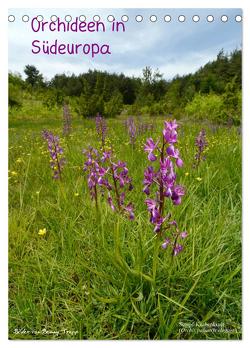
M 9 339 L 241 340 L 242 22 L 9 9 Z

